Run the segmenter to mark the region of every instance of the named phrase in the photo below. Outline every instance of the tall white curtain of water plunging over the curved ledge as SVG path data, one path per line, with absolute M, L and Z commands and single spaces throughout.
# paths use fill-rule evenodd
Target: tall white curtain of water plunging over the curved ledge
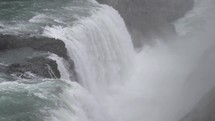
M 80 83 L 93 93 L 125 80 L 134 50 L 123 19 L 113 8 L 103 5 L 72 27 L 46 27 L 44 35 L 65 42 Z

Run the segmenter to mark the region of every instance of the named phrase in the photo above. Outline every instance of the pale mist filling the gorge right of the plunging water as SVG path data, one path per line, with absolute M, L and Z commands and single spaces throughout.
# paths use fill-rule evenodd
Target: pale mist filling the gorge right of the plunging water
M 196 0 L 174 22 L 177 37 L 135 54 L 129 79 L 108 105 L 120 121 L 179 121 L 215 86 L 214 3 Z

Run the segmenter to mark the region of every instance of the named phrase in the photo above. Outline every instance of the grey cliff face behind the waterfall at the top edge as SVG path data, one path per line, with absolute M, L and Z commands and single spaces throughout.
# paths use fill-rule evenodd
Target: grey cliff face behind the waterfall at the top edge
M 193 7 L 193 0 L 97 0 L 119 11 L 132 35 L 135 47 L 153 37 L 168 39 L 176 35 L 173 21 Z

